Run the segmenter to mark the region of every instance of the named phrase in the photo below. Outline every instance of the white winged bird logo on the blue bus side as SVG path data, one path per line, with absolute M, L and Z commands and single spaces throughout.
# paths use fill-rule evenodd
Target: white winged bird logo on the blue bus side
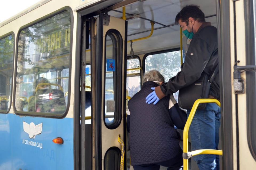
M 29 138 L 35 138 L 35 135 L 42 133 L 43 123 L 35 125 L 33 122 L 30 124 L 23 121 L 23 130 L 29 134 Z

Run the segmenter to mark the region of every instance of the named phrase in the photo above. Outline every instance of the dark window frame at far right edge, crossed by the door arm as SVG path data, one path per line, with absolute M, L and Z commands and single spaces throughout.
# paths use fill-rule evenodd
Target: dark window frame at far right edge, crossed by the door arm
M 255 56 L 255 28 L 254 23 L 256 22 L 256 16 L 253 14 L 253 2 L 245 3 L 245 43 L 246 43 L 246 65 L 255 65 L 256 64 L 256 56 Z M 251 22 L 253 21 L 253 22 Z M 253 36 L 252 36 L 253 35 Z M 247 143 L 251 155 L 254 160 L 256 160 L 256 140 L 255 139 L 255 98 L 256 98 L 256 74 L 252 71 L 246 71 L 246 128 L 247 128 Z M 238 104 L 238 103 L 237 103 Z M 241 125 L 240 125 L 241 126 Z

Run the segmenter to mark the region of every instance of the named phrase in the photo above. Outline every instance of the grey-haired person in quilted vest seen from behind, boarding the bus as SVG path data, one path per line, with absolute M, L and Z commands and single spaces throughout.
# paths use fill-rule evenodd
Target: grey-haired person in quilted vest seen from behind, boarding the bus
M 145 103 L 150 88 L 164 81 L 156 70 L 146 73 L 141 91 L 128 102 L 127 130 L 130 132 L 131 165 L 134 170 L 159 170 L 160 165 L 169 167 L 169 170 L 182 169 L 180 135 L 174 124 L 183 129 L 186 113 L 178 107 L 173 95 L 171 98 L 170 95 L 164 97 L 156 106 Z

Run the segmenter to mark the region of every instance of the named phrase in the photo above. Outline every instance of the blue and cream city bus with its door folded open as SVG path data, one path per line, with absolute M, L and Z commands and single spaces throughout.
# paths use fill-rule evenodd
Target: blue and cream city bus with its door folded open
M 190 4 L 218 30 L 220 169 L 255 167 L 255 0 L 42 0 L 0 23 L 0 169 L 132 170 L 127 101 L 180 71 Z

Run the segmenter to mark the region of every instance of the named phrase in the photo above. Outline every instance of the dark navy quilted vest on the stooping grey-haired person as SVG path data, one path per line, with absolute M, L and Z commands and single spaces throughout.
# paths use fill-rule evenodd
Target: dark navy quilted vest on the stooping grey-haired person
M 169 97 L 155 105 L 145 102 L 146 96 L 153 91 L 150 88 L 156 86 L 155 82 L 145 82 L 142 90 L 128 102 L 131 165 L 159 163 L 182 154 L 179 136 L 168 111 Z

